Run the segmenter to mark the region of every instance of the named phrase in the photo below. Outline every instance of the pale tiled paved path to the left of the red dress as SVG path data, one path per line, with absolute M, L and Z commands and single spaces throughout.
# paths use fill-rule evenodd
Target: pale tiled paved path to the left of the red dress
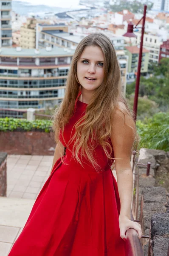
M 23 230 L 52 161 L 53 156 L 8 155 L 7 198 L 0 197 L 0 256 L 8 256 Z

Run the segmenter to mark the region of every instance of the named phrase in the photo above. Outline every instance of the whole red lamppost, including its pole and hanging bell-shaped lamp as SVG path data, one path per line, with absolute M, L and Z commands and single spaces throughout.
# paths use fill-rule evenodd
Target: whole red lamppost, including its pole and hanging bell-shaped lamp
M 137 79 L 136 79 L 136 83 L 135 83 L 135 96 L 134 96 L 134 106 L 133 106 L 133 112 L 134 112 L 134 121 L 136 122 L 137 119 L 137 105 L 138 105 L 138 92 L 139 92 L 139 83 L 140 83 L 140 73 L 141 73 L 141 59 L 142 59 L 142 51 L 143 51 L 143 38 L 144 38 L 144 26 L 145 26 L 145 20 L 146 20 L 146 5 L 144 6 L 144 15 L 141 18 L 141 20 L 143 20 L 143 26 L 141 27 L 137 27 L 137 25 L 141 22 L 141 20 L 138 21 L 137 25 L 135 25 L 135 27 L 133 27 L 133 24 L 130 22 L 128 24 L 128 28 L 127 28 L 127 33 L 125 33 L 123 36 L 127 36 L 127 37 L 137 37 L 134 33 L 133 33 L 133 29 L 140 29 L 141 28 L 141 43 L 140 43 L 140 52 L 139 52 L 139 59 L 138 59 L 138 70 L 137 70 Z

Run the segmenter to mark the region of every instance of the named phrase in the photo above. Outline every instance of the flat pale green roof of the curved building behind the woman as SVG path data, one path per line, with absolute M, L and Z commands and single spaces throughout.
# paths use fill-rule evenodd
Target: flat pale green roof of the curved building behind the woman
M 75 52 L 74 49 L 65 49 L 62 47 L 55 47 L 54 49 L 51 49 L 48 51 L 48 48 L 39 49 L 39 53 L 36 53 L 35 49 L 22 49 L 21 51 L 18 51 L 18 48 L 6 48 L 2 47 L 0 51 L 0 57 L 1 56 L 9 56 L 9 57 L 55 57 L 55 56 L 72 56 Z

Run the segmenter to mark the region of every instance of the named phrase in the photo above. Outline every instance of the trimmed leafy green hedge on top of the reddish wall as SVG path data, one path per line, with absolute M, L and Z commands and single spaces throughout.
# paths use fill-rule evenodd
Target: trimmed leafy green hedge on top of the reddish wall
M 51 120 L 28 121 L 17 118 L 0 118 L 0 131 L 51 131 Z

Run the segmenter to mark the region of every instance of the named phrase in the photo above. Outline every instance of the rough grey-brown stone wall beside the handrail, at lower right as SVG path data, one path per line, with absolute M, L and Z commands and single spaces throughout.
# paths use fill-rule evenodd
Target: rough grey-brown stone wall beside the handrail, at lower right
M 147 164 L 151 162 L 150 175 L 146 176 L 146 166 L 135 165 L 135 205 L 133 211 L 135 218 L 140 220 L 144 236 L 150 236 L 149 239 L 141 239 L 144 248 L 144 256 L 152 256 L 152 252 L 156 250 L 158 241 L 168 247 L 164 237 L 159 238 L 158 235 L 153 241 L 151 234 L 151 218 L 156 213 L 166 214 L 169 209 L 167 205 L 167 195 L 169 189 L 169 154 L 163 150 L 154 150 L 142 148 L 140 156 L 136 162 Z M 137 179 L 137 177 L 139 177 Z M 169 215 L 166 215 L 169 221 Z M 159 240 L 160 239 L 160 240 Z M 156 244 L 155 246 L 153 245 Z M 150 251 L 151 247 L 151 251 Z M 154 254 L 162 256 L 164 254 Z

